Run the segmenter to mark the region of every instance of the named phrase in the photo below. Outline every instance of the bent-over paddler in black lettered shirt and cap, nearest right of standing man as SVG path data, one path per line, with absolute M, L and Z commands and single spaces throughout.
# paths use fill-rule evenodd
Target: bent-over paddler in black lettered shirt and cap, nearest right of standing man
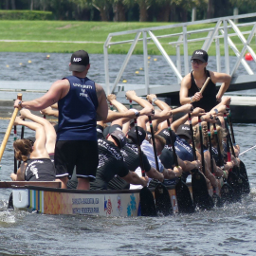
M 119 130 L 112 131 L 106 139 L 98 139 L 99 165 L 96 179 L 91 182 L 91 190 L 108 189 L 108 183 L 115 175 L 119 175 L 127 183 L 147 186 L 148 179 L 138 177 L 125 164 L 120 153 L 125 144 L 126 137 Z

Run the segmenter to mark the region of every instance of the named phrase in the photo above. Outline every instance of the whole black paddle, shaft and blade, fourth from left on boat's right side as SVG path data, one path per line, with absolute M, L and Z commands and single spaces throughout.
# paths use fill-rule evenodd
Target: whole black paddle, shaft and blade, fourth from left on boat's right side
M 192 123 L 190 124 L 192 130 Z M 203 134 L 202 134 L 202 124 L 201 118 L 198 116 L 198 126 L 199 126 L 199 136 L 200 136 L 200 144 L 201 144 L 201 162 L 202 162 L 202 170 L 203 174 L 205 174 L 205 157 L 204 157 L 204 149 L 203 149 Z M 193 135 L 193 133 L 192 133 Z M 196 160 L 195 153 L 195 145 L 192 139 L 192 148 L 193 148 L 193 157 Z M 211 209 L 214 206 L 213 200 L 209 194 L 206 178 L 197 170 L 195 174 L 192 175 L 192 195 L 194 204 L 198 206 L 200 209 Z

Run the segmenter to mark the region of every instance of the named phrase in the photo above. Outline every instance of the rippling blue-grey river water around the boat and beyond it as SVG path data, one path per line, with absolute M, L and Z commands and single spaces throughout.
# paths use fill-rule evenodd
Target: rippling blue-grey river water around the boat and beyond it
M 46 54 L 9 53 L 9 58 L 15 59 L 11 69 L 10 64 L 6 67 L 3 63 L 7 54 L 0 56 L 0 63 L 4 64 L 0 68 L 0 80 L 53 82 L 68 72 L 68 67 L 64 68 L 64 63 L 69 61 L 66 54 L 51 54 L 50 60 L 45 60 Z M 102 56 L 92 56 L 92 70 L 98 73 L 92 72 L 90 77 L 103 82 L 102 62 L 98 65 L 94 61 L 98 58 L 102 60 Z M 32 61 L 31 65 L 19 64 L 27 63 L 27 59 Z M 116 60 L 119 63 L 119 56 Z M 133 65 L 127 80 L 133 79 L 132 69 L 138 64 Z M 0 121 L 1 141 L 8 123 L 6 119 Z M 255 144 L 256 124 L 234 124 L 234 133 L 243 152 Z M 31 135 L 30 131 L 25 131 L 26 137 Z M 1 161 L 1 180 L 10 180 L 13 170 L 12 141 L 10 136 Z M 102 218 L 15 212 L 7 210 L 10 190 L 1 190 L 0 255 L 256 255 L 255 153 L 253 149 L 241 156 L 251 186 L 251 193 L 241 203 L 193 214 Z

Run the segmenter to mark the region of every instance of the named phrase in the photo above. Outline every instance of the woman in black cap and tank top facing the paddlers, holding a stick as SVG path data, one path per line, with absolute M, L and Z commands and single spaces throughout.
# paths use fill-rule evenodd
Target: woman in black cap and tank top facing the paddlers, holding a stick
M 209 112 L 221 101 L 222 96 L 229 88 L 231 77 L 225 73 L 217 73 L 207 70 L 208 53 L 202 49 L 195 50 L 192 54 L 192 72 L 181 81 L 179 101 L 182 105 L 192 103 L 193 107 L 201 107 Z M 210 77 L 203 94 L 200 90 Z M 222 82 L 217 93 L 216 82 Z

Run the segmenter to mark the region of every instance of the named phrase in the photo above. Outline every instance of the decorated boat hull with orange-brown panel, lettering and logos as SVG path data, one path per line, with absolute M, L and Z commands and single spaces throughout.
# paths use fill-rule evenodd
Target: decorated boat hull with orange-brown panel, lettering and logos
M 189 184 L 192 192 L 191 184 Z M 27 186 L 13 189 L 15 210 L 45 214 L 89 214 L 104 217 L 141 215 L 139 191 L 77 191 Z M 178 211 L 174 187 L 168 189 L 174 211 Z M 154 194 L 154 191 L 153 191 Z

